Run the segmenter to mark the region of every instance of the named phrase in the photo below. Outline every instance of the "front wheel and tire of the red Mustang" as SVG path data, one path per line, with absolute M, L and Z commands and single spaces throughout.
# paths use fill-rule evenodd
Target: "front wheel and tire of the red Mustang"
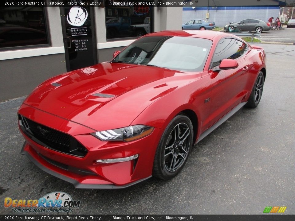
M 179 114 L 171 120 L 156 149 L 153 176 L 169 180 L 181 171 L 192 149 L 193 134 L 193 125 L 186 115 Z

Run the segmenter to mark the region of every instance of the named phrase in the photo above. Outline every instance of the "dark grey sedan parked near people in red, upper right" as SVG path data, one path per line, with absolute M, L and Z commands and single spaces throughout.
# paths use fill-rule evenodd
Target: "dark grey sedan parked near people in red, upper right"
M 224 30 L 227 30 L 228 25 L 225 25 Z M 270 30 L 270 23 L 262 21 L 260 19 L 244 19 L 237 23 L 231 22 L 230 30 L 239 29 L 240 31 L 255 31 L 255 32 L 262 32 L 262 31 L 269 31 Z

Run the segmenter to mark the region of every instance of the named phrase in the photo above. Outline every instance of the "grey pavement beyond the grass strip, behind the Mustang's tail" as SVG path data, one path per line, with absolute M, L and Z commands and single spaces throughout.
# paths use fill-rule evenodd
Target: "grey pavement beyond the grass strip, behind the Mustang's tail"
M 262 32 L 260 40 L 293 44 L 295 43 L 295 28 L 287 28 L 287 26 L 284 25 L 281 30 Z

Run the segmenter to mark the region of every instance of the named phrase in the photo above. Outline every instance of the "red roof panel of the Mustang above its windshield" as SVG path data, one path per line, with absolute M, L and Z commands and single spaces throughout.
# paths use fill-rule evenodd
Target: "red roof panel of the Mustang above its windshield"
M 145 36 L 182 36 L 213 40 L 214 38 L 235 37 L 232 34 L 212 30 L 167 30 L 147 34 Z

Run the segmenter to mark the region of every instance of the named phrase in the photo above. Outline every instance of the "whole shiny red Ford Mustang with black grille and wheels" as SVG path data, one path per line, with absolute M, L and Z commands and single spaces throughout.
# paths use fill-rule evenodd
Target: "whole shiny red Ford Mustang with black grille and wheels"
M 109 62 L 39 85 L 18 111 L 22 154 L 76 188 L 174 177 L 192 146 L 261 99 L 263 48 L 215 31 L 162 31 Z

